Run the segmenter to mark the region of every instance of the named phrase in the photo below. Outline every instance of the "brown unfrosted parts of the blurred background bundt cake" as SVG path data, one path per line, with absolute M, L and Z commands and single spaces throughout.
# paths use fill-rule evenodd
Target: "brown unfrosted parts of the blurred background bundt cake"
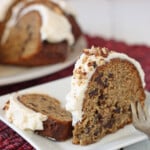
M 9 35 L 3 43 L 2 37 L 6 25 L 11 18 L 12 9 L 19 3 L 24 3 L 24 7 L 18 12 L 17 22 L 11 27 Z M 67 40 L 54 43 L 41 40 L 40 29 L 42 18 L 39 12 L 33 10 L 19 17 L 19 14 L 24 9 L 34 5 L 45 6 L 55 13 L 66 17 L 71 25 L 74 43 L 69 45 Z M 51 28 L 51 26 L 49 26 L 49 28 Z M 71 50 L 74 49 L 77 41 L 82 37 L 82 32 L 75 16 L 66 13 L 58 4 L 50 0 L 16 1 L 7 12 L 7 19 L 0 24 L 0 31 L 0 63 L 21 66 L 39 66 L 63 62 L 67 59 Z M 59 30 L 57 34 L 59 35 Z

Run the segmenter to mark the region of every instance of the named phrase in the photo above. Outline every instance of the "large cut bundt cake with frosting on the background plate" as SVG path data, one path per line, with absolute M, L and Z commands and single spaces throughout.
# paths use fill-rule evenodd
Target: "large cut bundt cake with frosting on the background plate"
M 0 27 L 2 64 L 39 66 L 63 62 L 82 37 L 75 16 L 51 0 L 16 1 L 8 14 Z

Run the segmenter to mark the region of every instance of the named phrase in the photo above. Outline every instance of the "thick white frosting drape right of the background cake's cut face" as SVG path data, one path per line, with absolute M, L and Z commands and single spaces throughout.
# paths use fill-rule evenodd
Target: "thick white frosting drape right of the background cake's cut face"
M 44 5 L 32 5 L 21 12 L 21 16 L 31 12 L 38 11 L 42 18 L 41 38 L 52 43 L 67 40 L 69 45 L 74 43 L 74 36 L 69 21 L 63 15 L 55 13 Z

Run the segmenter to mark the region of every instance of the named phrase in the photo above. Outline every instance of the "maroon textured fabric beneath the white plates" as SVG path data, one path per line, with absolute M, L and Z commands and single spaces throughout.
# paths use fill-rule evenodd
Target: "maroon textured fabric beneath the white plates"
M 150 47 L 145 45 L 127 45 L 124 42 L 106 40 L 101 37 L 91 37 L 88 35 L 85 35 L 85 37 L 88 42 L 88 47 L 91 47 L 92 45 L 107 47 L 118 52 L 127 53 L 129 56 L 138 60 L 146 73 L 146 89 L 150 91 Z M 69 76 L 72 74 L 72 70 L 73 65 L 57 73 L 47 75 L 45 77 L 41 77 L 32 81 L 2 86 L 0 87 L 0 95 Z M 34 148 L 24 139 L 22 139 L 16 132 L 14 132 L 7 125 L 0 121 L 0 150 L 1 149 L 32 150 Z

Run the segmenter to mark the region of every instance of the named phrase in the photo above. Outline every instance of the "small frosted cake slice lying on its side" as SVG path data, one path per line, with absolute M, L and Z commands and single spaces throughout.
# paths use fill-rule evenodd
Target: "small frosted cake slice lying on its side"
M 32 130 L 57 141 L 72 136 L 71 113 L 48 95 L 12 94 L 4 110 L 7 119 L 23 130 Z

